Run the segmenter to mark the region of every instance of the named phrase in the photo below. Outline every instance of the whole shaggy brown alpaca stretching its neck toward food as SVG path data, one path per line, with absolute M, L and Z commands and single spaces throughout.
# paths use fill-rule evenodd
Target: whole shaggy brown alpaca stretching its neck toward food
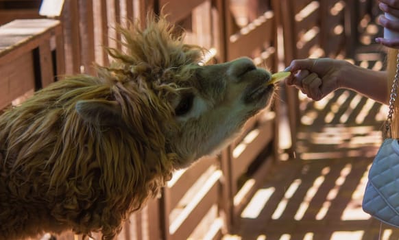
M 201 156 L 225 147 L 267 108 L 268 71 L 248 58 L 203 65 L 162 16 L 119 29 L 125 50 L 0 116 L 0 239 L 101 232 Z

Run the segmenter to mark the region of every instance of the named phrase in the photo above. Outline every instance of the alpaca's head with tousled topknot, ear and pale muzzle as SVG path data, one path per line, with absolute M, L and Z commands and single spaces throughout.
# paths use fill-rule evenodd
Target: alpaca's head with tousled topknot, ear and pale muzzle
M 226 146 L 268 106 L 274 86 L 249 58 L 203 65 L 204 49 L 184 44 L 172 25 L 157 20 L 119 29 L 125 51 L 108 49 L 114 62 L 99 68 L 111 97 L 78 101 L 76 110 L 97 125 L 123 125 L 154 156 L 173 156 L 173 168 L 186 167 Z

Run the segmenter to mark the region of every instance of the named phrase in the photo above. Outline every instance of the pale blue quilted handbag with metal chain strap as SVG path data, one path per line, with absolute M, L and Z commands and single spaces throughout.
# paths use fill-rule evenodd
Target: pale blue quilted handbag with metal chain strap
M 387 139 L 383 141 L 370 168 L 362 207 L 363 211 L 376 219 L 399 228 L 399 142 L 398 139 L 391 139 L 391 122 L 399 82 L 399 54 L 396 68 L 386 122 Z

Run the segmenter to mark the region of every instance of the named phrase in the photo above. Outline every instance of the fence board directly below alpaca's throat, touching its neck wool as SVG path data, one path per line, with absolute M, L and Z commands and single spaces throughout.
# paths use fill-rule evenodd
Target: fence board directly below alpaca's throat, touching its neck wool
M 197 163 L 186 169 L 173 186 L 166 189 L 166 194 L 170 195 L 169 208 L 176 208 L 184 194 L 189 191 L 206 169 L 215 163 L 215 159 L 216 158 L 205 157 L 198 160 Z

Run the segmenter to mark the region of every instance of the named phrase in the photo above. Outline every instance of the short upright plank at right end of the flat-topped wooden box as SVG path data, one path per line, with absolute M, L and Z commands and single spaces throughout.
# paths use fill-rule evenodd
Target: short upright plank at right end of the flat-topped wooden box
M 51 56 L 50 41 L 44 41 L 39 46 L 41 85 L 44 88 L 54 82 L 53 58 Z

